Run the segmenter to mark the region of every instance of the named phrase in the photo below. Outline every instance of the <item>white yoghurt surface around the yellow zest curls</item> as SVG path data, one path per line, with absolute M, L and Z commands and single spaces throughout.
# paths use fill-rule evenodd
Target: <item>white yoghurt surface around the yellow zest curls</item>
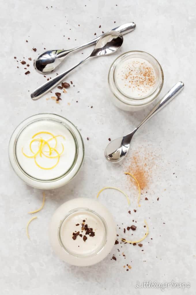
M 56 167 L 52 169 L 45 170 L 38 167 L 35 163 L 34 158 L 27 158 L 22 153 L 23 148 L 23 151 L 26 155 L 33 155 L 29 149 L 29 144 L 32 140 L 33 135 L 38 132 L 50 132 L 53 135 L 63 135 L 63 137 L 65 137 L 65 139 L 63 139 L 63 137 L 57 137 L 56 150 L 61 153 L 63 149 L 63 144 L 64 152 L 60 156 L 59 162 Z M 51 135 L 42 133 L 34 138 L 42 138 L 43 140 L 48 140 L 49 138 L 51 138 Z M 49 143 L 51 147 L 54 147 L 55 140 L 53 139 Z M 32 150 L 34 153 L 36 153 L 36 151 L 38 150 L 38 142 L 35 141 L 32 143 Z M 47 145 L 45 145 L 43 151 L 47 155 Z M 57 178 L 68 171 L 68 169 L 73 164 L 75 153 L 76 145 L 71 132 L 63 124 L 52 120 L 39 120 L 37 122 L 31 123 L 21 132 L 16 145 L 16 156 L 21 168 L 30 176 L 43 180 Z M 53 152 L 53 156 L 56 155 L 57 154 Z M 52 167 L 57 163 L 57 160 L 58 158 L 46 158 L 45 156 L 40 156 L 39 154 L 36 156 L 37 163 L 45 168 Z

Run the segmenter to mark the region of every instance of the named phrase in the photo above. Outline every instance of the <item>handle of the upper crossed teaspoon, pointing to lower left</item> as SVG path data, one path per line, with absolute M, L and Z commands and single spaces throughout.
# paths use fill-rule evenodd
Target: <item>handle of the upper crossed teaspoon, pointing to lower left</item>
M 48 91 L 50 91 L 53 87 L 55 87 L 59 82 L 61 82 L 63 80 L 63 78 L 70 73 L 73 69 L 75 69 L 78 65 L 81 65 L 81 63 L 83 63 L 85 60 L 87 60 L 90 56 L 87 56 L 85 59 L 81 60 L 79 63 L 77 63 L 76 65 L 74 65 L 72 68 L 68 69 L 67 71 L 61 73 L 60 75 L 52 78 L 51 80 L 49 80 L 48 82 L 44 83 L 43 85 L 41 85 L 40 87 L 38 87 L 35 91 L 33 91 L 31 93 L 31 98 L 33 100 L 36 100 L 38 98 L 40 98 L 41 96 L 43 96 L 45 93 L 47 93 Z

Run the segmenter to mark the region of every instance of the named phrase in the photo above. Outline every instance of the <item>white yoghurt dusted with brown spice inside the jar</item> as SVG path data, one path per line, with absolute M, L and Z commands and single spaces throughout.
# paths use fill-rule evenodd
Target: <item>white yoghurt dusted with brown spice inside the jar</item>
M 132 57 L 119 63 L 115 71 L 115 80 L 121 92 L 139 99 L 153 92 L 156 73 L 147 60 Z

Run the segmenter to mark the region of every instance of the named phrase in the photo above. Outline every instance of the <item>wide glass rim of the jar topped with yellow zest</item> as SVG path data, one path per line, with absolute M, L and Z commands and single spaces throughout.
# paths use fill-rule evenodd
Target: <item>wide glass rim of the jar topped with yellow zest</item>
M 53 122 L 58 122 L 60 124 L 63 124 L 64 127 L 66 129 L 68 129 L 68 131 L 71 133 L 74 143 L 75 143 L 76 150 L 75 150 L 75 156 L 74 156 L 72 165 L 68 168 L 68 170 L 65 173 L 63 173 L 62 175 L 57 176 L 55 178 L 40 179 L 40 178 L 36 178 L 34 176 L 31 176 L 21 167 L 21 165 L 17 159 L 16 145 L 17 145 L 17 141 L 18 141 L 21 133 L 30 124 L 33 124 L 34 122 L 38 122 L 40 120 L 50 120 Z M 82 150 L 82 154 L 81 154 L 81 150 Z M 83 159 L 84 159 L 84 143 L 83 143 L 83 139 L 81 137 L 80 132 L 78 131 L 77 127 L 71 121 L 69 121 L 68 119 L 64 118 L 63 116 L 60 116 L 57 114 L 40 113 L 40 114 L 36 114 L 36 115 L 30 116 L 30 117 L 24 119 L 15 128 L 14 132 L 11 135 L 10 141 L 9 141 L 9 160 L 10 160 L 12 168 L 14 169 L 16 174 L 18 174 L 18 176 L 20 178 L 22 178 L 29 185 L 34 186 L 34 184 L 36 183 L 35 187 L 37 187 L 37 188 L 40 188 L 38 186 L 41 186 L 41 188 L 42 188 L 44 186 L 44 183 L 45 184 L 57 183 L 58 181 L 62 183 L 63 178 L 68 176 L 68 174 L 71 173 L 72 170 L 74 170 L 76 168 L 76 166 L 78 166 L 76 168 L 76 171 L 73 173 L 74 175 L 71 177 L 71 179 L 72 179 L 77 174 L 77 172 L 80 170 L 81 165 L 83 163 Z M 79 165 L 76 165 L 77 160 L 80 161 Z M 69 179 L 68 181 L 70 181 L 71 179 Z M 66 183 L 64 183 L 64 184 L 66 184 Z M 61 184 L 61 185 L 63 185 L 63 184 Z M 53 186 L 54 185 L 51 184 L 51 187 L 48 187 L 48 189 L 53 188 Z

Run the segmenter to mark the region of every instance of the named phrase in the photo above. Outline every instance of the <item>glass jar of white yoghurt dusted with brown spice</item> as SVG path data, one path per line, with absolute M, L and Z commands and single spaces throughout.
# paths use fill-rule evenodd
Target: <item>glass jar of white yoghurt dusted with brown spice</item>
M 114 60 L 108 73 L 112 102 L 125 111 L 138 111 L 153 102 L 164 82 L 163 70 L 149 53 L 129 51 Z

